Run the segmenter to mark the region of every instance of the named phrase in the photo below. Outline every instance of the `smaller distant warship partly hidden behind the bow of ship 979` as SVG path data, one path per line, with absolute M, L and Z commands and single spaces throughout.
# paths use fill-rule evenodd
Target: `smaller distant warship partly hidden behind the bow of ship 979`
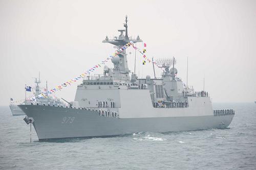
M 41 92 L 42 92 L 41 88 L 39 87 L 39 83 L 41 83 L 40 74 L 39 74 L 39 78 L 34 78 L 34 79 L 35 79 L 35 84 L 36 84 L 34 95 L 37 96 L 38 94 L 41 94 Z M 47 83 L 46 83 L 46 89 L 47 89 Z M 60 101 L 60 99 L 53 98 L 52 96 L 49 96 L 49 95 L 47 95 L 47 98 L 34 98 L 34 100 L 36 101 L 36 103 L 38 105 L 39 104 L 40 105 L 47 104 L 47 105 L 66 106 L 65 103 Z M 26 98 L 26 89 L 25 89 L 25 100 L 20 105 L 27 105 L 28 103 L 31 103 L 31 101 L 29 101 Z M 13 116 L 25 115 L 25 113 L 22 111 L 22 109 L 20 109 L 20 107 L 18 107 L 16 104 L 10 103 L 9 107 L 11 109 L 11 113 Z

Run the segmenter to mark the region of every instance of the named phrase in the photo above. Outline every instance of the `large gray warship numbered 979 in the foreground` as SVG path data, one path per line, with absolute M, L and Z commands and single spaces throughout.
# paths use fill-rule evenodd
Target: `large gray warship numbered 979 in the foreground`
M 128 42 L 127 16 L 120 35 L 102 41 L 120 49 Z M 125 34 L 124 34 L 125 32 Z M 194 131 L 229 126 L 234 110 L 213 110 L 207 92 L 184 86 L 174 67 L 175 59 L 164 62 L 160 78 L 138 78 L 129 70 L 124 49 L 112 58 L 113 68 L 104 66 L 102 75 L 84 77 L 77 85 L 69 107 L 19 105 L 26 113 L 39 141 L 55 138 L 105 137 L 136 132 Z M 172 64 L 171 64 L 172 63 Z

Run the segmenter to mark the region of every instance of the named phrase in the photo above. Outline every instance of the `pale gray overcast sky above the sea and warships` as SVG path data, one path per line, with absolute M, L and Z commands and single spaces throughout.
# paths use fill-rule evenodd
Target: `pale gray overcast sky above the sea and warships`
M 214 102 L 256 101 L 256 1 L 0 1 L 0 105 L 24 99 L 24 86 L 41 73 L 42 86 L 72 79 L 114 52 L 101 41 L 139 35 L 147 56 L 177 58 L 178 76 Z M 142 43 L 138 44 L 142 46 Z M 129 50 L 134 70 L 134 51 Z M 108 64 L 112 66 L 111 63 Z M 140 77 L 151 75 L 151 64 Z M 95 73 L 101 74 L 102 69 Z M 160 77 L 161 70 L 156 69 Z M 56 93 L 74 100 L 76 85 Z M 29 94 L 28 94 L 29 95 Z

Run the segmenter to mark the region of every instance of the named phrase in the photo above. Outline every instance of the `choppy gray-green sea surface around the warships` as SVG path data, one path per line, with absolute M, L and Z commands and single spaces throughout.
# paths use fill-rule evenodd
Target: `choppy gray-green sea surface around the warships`
M 140 132 L 109 138 L 39 142 L 0 107 L 0 169 L 256 169 L 256 104 L 214 104 L 236 111 L 229 128 Z

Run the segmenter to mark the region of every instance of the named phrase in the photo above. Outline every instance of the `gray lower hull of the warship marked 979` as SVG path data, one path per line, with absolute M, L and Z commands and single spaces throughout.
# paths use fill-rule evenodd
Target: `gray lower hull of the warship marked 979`
M 39 140 L 71 137 L 102 137 L 136 132 L 175 132 L 223 129 L 233 114 L 214 116 L 170 116 L 117 118 L 99 115 L 97 111 L 52 106 L 19 105 L 28 117 Z

